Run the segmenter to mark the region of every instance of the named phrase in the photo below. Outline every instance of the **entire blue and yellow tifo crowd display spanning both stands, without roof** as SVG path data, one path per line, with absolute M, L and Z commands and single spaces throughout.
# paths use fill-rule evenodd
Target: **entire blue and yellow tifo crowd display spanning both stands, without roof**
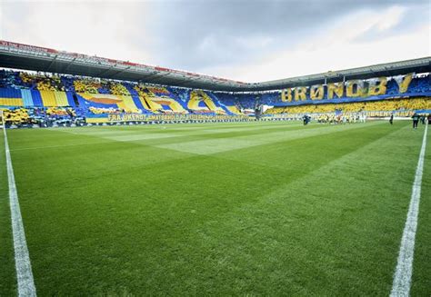
M 410 116 L 431 111 L 429 74 L 405 74 L 265 93 L 227 93 L 91 77 L 0 71 L 6 125 L 249 121 L 304 114 Z

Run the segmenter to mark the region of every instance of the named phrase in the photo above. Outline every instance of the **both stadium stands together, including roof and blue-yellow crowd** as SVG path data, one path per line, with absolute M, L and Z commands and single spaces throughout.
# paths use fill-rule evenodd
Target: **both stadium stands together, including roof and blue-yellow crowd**
M 430 57 L 244 83 L 0 41 L 0 67 L 14 126 L 431 113 Z

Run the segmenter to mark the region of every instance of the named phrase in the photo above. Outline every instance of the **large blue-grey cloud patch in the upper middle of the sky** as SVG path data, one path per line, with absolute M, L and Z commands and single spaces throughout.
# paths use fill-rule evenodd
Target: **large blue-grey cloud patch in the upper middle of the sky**
M 295 46 L 337 17 L 390 5 L 406 2 L 162 1 L 151 3 L 152 15 L 145 20 L 151 35 L 141 36 L 136 43 L 155 53 L 156 64 L 199 71 L 245 64 Z

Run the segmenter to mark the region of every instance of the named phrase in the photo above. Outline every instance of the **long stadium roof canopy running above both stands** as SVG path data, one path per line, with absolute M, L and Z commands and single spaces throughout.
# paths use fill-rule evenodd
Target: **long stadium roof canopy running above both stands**
M 326 82 L 366 79 L 376 76 L 395 76 L 410 72 L 428 73 L 431 70 L 431 57 L 329 71 L 322 74 L 296 76 L 262 83 L 244 83 L 211 75 L 195 74 L 86 54 L 68 53 L 0 40 L 0 67 L 85 75 L 148 84 L 165 84 L 212 91 L 257 92 L 279 90 L 298 85 L 324 84 Z

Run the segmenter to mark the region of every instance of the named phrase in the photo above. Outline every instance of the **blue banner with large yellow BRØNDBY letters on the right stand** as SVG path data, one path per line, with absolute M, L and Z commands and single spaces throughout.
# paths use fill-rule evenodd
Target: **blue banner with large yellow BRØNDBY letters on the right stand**
M 414 73 L 398 75 L 391 80 L 388 80 L 386 77 L 376 77 L 367 80 L 356 79 L 339 83 L 287 88 L 281 92 L 281 102 L 275 105 L 336 104 L 388 98 L 431 96 L 431 87 L 428 79 L 423 79 L 424 89 L 422 92 L 410 92 L 409 86 L 414 80 L 414 75 Z M 420 78 L 415 78 L 416 84 L 418 79 Z

